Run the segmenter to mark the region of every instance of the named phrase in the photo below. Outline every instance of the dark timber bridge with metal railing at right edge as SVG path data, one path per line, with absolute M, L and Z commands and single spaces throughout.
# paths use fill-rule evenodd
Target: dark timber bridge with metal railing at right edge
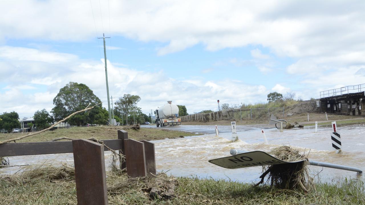
M 319 92 L 321 112 L 361 115 L 365 104 L 365 84 L 350 85 Z

